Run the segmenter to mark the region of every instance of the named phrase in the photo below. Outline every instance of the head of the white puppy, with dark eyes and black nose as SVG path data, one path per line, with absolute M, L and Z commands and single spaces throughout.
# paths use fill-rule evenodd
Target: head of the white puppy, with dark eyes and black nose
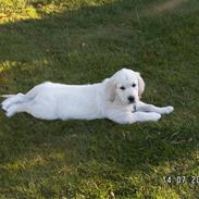
M 145 82 L 138 72 L 123 69 L 107 79 L 108 100 L 120 100 L 123 104 L 138 101 L 145 90 Z

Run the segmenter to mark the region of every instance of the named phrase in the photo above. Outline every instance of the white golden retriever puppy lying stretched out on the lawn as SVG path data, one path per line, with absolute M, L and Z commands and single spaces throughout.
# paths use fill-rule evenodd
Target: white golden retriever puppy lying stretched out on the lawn
M 120 124 L 158 121 L 173 107 L 158 108 L 140 101 L 145 83 L 138 72 L 123 69 L 102 83 L 64 85 L 43 83 L 27 94 L 3 96 L 7 116 L 26 112 L 37 119 L 109 119 Z

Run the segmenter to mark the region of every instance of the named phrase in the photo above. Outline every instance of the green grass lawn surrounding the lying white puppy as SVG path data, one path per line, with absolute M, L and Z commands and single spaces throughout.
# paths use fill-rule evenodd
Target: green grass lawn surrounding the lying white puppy
M 175 107 L 126 126 L 1 111 L 0 198 L 199 198 L 199 1 L 172 2 L 0 1 L 0 95 L 101 82 L 127 64 L 144 101 Z

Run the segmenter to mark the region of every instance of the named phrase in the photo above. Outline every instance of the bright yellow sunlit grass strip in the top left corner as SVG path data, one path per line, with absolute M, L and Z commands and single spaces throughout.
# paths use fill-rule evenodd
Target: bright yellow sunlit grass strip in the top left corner
M 28 18 L 41 18 L 48 14 L 77 10 L 85 7 L 99 7 L 115 0 L 1 0 L 0 24 Z

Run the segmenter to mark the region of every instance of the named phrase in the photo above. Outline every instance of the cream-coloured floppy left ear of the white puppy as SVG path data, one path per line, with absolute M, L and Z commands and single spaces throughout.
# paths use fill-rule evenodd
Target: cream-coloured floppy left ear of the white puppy
M 113 102 L 115 99 L 115 88 L 116 85 L 113 80 L 113 78 L 105 79 L 105 96 L 108 101 Z

